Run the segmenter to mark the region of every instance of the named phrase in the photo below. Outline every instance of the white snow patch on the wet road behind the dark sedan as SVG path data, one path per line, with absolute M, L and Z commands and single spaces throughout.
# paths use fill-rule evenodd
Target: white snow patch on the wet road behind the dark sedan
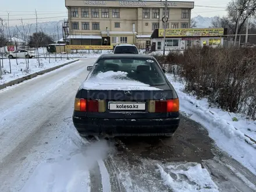
M 192 166 L 169 165 L 165 168 L 166 171 L 159 164 L 157 167 L 164 184 L 174 192 L 218 191 L 218 187 L 212 181 L 207 169 L 202 168 L 200 164 L 196 163 Z

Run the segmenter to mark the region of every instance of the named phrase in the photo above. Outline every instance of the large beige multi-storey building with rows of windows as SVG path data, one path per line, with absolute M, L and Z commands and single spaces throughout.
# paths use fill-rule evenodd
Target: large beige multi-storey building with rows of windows
M 194 2 L 65 0 L 70 45 L 150 44 L 155 29 L 190 27 Z

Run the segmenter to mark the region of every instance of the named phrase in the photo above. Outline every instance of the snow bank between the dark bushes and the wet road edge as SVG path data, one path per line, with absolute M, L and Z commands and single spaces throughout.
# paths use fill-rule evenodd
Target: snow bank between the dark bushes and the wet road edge
M 216 145 L 234 159 L 242 163 L 256 175 L 256 144 L 244 136 L 244 127 L 256 131 L 256 122 L 242 119 L 239 114 L 230 114 L 218 108 L 209 108 L 206 99 L 197 100 L 194 96 L 183 92 L 184 85 L 177 82 L 172 74 L 166 75 L 177 91 L 180 99 L 180 111 L 190 114 L 190 118 L 201 123 L 215 140 Z M 233 122 L 233 116 L 240 117 Z M 235 127 L 238 129 L 236 130 Z M 248 134 L 255 137 L 254 133 Z

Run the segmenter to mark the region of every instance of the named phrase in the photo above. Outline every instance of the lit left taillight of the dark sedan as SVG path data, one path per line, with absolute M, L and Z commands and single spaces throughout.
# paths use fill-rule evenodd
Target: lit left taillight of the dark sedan
M 99 112 L 98 100 L 75 98 L 74 111 Z M 100 112 L 104 112 L 104 110 L 101 109 Z

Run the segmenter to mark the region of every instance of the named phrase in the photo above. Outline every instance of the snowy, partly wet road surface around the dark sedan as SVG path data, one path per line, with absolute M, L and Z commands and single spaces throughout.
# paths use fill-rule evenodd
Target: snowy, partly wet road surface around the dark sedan
M 74 95 L 94 61 L 0 91 L 0 191 L 256 191 L 256 177 L 183 115 L 172 139 L 80 138 Z

